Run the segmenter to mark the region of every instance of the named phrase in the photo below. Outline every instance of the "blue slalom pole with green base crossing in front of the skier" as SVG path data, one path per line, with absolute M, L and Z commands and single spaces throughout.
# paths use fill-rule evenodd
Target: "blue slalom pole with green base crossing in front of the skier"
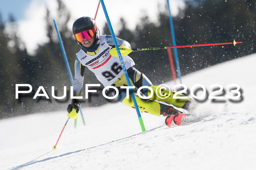
M 114 34 L 112 25 L 111 25 L 111 23 L 110 23 L 109 16 L 108 16 L 108 12 L 107 12 L 107 10 L 106 10 L 106 7 L 105 7 L 105 4 L 104 4 L 104 1 L 103 1 L 103 0 L 101 0 L 101 5 L 102 5 L 103 11 L 104 11 L 104 13 L 105 13 L 106 20 L 107 20 L 107 22 L 108 22 L 109 29 L 110 29 L 112 38 L 113 38 L 113 40 L 114 40 L 114 44 L 115 44 L 115 46 L 116 46 L 116 50 L 117 50 L 118 57 L 119 57 L 119 59 L 120 59 L 121 65 L 122 65 L 123 70 L 124 70 L 124 75 L 125 75 L 127 84 L 128 84 L 128 86 L 132 86 L 132 85 L 131 85 L 131 82 L 130 82 L 130 80 L 129 80 L 129 77 L 128 77 L 128 74 L 127 74 L 127 71 L 126 71 L 126 68 L 125 68 L 125 65 L 124 65 L 124 60 L 123 60 L 123 57 L 122 57 L 122 55 L 121 55 L 120 49 L 119 49 L 119 47 L 118 47 L 117 40 L 116 40 L 116 36 L 115 36 L 115 34 Z M 138 118 L 139 118 L 139 122 L 140 122 L 140 127 L 141 127 L 141 129 L 142 129 L 142 132 L 143 132 L 143 133 L 146 133 L 146 129 L 145 129 L 145 126 L 144 126 L 142 117 L 141 117 L 141 115 L 140 115 L 140 111 L 139 111 L 139 107 L 138 107 L 138 104 L 137 104 L 136 99 L 135 99 L 135 95 L 134 95 L 134 93 L 133 93 L 133 91 L 132 91 L 131 88 L 130 88 L 129 90 L 130 90 L 130 92 L 131 92 L 132 100 L 133 100 L 133 103 L 134 103 L 136 112 L 137 112 L 137 114 L 138 114 Z

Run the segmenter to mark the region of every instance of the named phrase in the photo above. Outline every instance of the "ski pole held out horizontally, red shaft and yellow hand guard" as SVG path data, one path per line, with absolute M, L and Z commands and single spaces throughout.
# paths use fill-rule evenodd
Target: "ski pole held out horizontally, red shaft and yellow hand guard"
M 217 46 L 217 45 L 225 45 L 225 44 L 240 44 L 242 42 L 236 42 L 235 40 L 233 42 L 229 43 L 212 43 L 212 44 L 193 44 L 193 45 L 185 45 L 185 46 L 170 46 L 170 47 L 151 47 L 151 48 L 128 48 L 125 46 L 120 46 L 120 52 L 121 55 L 128 55 L 131 52 L 136 52 L 136 51 L 146 51 L 146 50 L 160 50 L 160 49 L 168 49 L 168 48 L 184 48 L 184 47 L 199 47 L 199 46 Z M 112 48 L 110 50 L 110 54 L 114 57 L 118 57 L 118 54 L 116 52 L 116 48 Z

